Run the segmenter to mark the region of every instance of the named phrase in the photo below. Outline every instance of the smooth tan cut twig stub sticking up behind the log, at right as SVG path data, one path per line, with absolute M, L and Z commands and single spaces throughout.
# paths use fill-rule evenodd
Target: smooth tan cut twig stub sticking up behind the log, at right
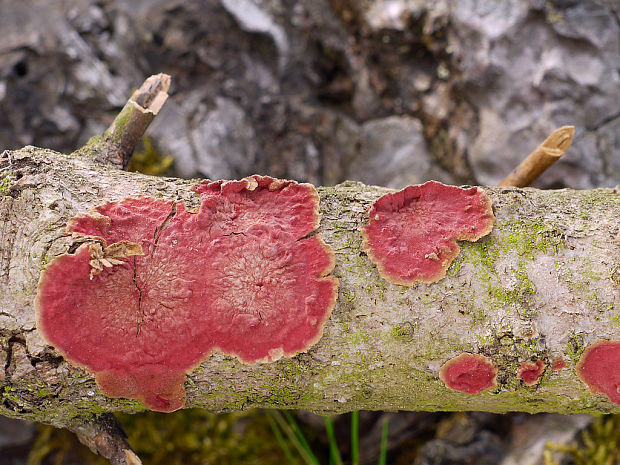
M 525 187 L 534 182 L 547 168 L 560 159 L 573 142 L 574 126 L 562 126 L 523 160 L 498 184 L 502 187 Z

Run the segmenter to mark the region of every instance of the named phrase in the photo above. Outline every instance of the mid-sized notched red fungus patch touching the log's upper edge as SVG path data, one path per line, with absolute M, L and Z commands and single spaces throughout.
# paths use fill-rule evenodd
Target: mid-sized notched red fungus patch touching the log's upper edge
M 379 198 L 368 210 L 363 248 L 387 281 L 434 283 L 459 253 L 457 240 L 476 241 L 493 229 L 491 199 L 479 187 L 437 181 Z

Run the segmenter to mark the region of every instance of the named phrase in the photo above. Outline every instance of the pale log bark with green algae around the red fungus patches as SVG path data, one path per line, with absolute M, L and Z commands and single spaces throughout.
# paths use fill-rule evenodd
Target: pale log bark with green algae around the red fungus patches
M 10 171 L 0 197 L 0 414 L 63 425 L 76 415 L 142 409 L 103 396 L 90 374 L 42 341 L 37 283 L 47 263 L 79 245 L 64 230 L 76 213 L 136 194 L 191 207 L 194 182 L 33 147 L 5 153 L 0 163 Z M 461 243 L 443 280 L 403 287 L 383 280 L 361 248 L 366 209 L 387 190 L 352 182 L 319 188 L 320 229 L 340 280 L 323 338 L 271 364 L 214 355 L 188 376 L 187 406 L 620 412 L 575 375 L 585 347 L 620 339 L 619 191 L 485 190 L 496 216 L 491 234 Z M 497 388 L 467 395 L 443 385 L 441 365 L 463 352 L 498 365 Z M 547 368 L 527 387 L 517 369 L 538 359 Z M 557 359 L 568 366 L 552 370 Z

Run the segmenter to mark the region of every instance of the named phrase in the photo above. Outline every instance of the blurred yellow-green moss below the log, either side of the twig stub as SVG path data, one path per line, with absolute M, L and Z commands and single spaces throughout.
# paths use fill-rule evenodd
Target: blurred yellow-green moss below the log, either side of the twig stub
M 213 414 L 188 409 L 171 414 L 145 412 L 118 417 L 128 433 L 130 445 L 144 463 L 275 465 L 286 462 L 261 412 Z M 28 457 L 30 465 L 48 463 L 51 458 L 64 463 L 62 459 L 69 452 L 79 454 L 82 463 L 108 463 L 81 446 L 66 430 L 43 425 L 37 428 L 38 437 Z

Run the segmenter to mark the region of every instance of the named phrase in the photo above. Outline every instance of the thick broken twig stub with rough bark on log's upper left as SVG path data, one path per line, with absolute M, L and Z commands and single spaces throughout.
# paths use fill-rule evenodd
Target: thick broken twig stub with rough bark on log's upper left
M 96 160 L 127 168 L 131 155 L 153 118 L 168 99 L 170 76 L 149 77 L 127 101 L 103 137 L 92 138 L 78 154 L 92 155 Z

